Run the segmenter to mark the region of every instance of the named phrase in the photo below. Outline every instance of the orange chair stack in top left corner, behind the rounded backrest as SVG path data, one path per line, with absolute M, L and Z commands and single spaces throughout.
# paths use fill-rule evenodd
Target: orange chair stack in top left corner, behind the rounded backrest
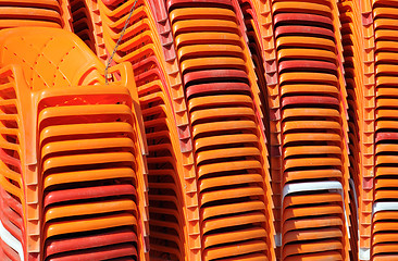
M 20 26 L 71 29 L 69 2 L 65 0 L 2 0 L 0 7 L 0 29 Z

